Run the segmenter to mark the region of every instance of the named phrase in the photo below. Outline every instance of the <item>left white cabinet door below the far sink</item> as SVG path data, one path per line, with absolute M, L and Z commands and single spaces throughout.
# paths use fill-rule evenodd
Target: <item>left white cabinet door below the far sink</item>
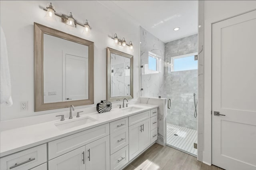
M 129 161 L 140 153 L 141 123 L 129 127 Z

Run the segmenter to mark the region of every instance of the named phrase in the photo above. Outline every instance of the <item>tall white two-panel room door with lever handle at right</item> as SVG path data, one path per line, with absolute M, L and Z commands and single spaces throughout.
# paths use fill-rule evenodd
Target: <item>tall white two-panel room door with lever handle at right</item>
M 256 170 L 255 49 L 256 10 L 212 25 L 212 164 L 226 170 Z

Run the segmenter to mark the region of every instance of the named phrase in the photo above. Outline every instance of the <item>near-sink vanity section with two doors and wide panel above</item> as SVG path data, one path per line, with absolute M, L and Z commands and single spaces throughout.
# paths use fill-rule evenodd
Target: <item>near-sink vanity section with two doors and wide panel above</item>
M 109 123 L 48 142 L 48 157 L 49 170 L 109 170 Z

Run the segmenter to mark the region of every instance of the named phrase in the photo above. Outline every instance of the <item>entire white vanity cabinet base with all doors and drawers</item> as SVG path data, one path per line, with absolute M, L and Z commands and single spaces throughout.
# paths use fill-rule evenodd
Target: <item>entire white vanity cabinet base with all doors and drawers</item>
M 3 156 L 0 170 L 120 170 L 157 140 L 150 108 Z

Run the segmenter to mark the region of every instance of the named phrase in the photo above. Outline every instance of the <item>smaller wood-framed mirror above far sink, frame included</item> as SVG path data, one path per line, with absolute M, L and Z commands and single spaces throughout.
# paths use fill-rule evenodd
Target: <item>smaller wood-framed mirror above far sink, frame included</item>
M 133 99 L 133 55 L 107 47 L 107 100 Z

